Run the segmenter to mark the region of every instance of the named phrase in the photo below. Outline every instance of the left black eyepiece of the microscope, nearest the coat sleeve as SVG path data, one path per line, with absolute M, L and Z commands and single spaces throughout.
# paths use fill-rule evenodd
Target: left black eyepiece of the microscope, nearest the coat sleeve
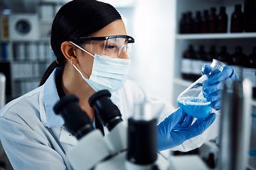
M 74 94 L 64 96 L 53 107 L 56 115 L 61 115 L 65 120 L 65 127 L 78 140 L 93 130 L 92 123 L 85 111 L 78 104 L 79 98 Z

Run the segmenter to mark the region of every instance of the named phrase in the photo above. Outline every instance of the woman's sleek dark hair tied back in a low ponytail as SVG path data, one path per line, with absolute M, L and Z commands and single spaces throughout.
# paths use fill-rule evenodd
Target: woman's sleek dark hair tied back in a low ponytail
M 63 5 L 53 20 L 50 45 L 57 57 L 46 69 L 40 85 L 46 82 L 56 67 L 64 67 L 65 57 L 60 46 L 65 41 L 86 37 L 121 19 L 119 12 L 110 4 L 95 0 L 73 0 Z

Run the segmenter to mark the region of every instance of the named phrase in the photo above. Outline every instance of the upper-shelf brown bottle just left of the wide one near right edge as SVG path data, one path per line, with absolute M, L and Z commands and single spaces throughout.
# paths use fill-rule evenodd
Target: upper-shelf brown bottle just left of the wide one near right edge
M 225 12 L 225 6 L 220 6 L 220 13 L 217 16 L 218 33 L 227 33 L 228 31 L 228 15 Z

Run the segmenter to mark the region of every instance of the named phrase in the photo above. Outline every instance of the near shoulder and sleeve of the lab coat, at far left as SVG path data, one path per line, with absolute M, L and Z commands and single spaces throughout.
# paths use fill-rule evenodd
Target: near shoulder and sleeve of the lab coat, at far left
M 64 155 L 41 123 L 42 91 L 38 87 L 0 111 L 0 140 L 14 169 L 67 169 Z

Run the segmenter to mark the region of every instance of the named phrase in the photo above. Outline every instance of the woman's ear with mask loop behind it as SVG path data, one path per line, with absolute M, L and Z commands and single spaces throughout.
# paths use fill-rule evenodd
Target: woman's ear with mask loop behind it
M 65 58 L 69 62 L 72 61 L 73 64 L 78 64 L 78 58 L 75 56 L 74 50 L 75 46 L 71 42 L 65 41 L 61 44 L 61 51 Z

